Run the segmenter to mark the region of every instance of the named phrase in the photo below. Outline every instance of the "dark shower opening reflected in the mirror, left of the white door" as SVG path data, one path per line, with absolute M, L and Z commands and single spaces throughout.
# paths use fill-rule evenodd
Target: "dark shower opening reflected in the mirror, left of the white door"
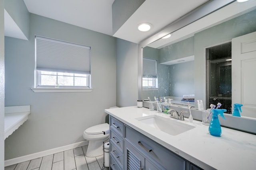
M 231 42 L 206 49 L 207 97 L 206 106 L 221 103 L 226 113 L 231 114 L 232 106 L 232 56 Z

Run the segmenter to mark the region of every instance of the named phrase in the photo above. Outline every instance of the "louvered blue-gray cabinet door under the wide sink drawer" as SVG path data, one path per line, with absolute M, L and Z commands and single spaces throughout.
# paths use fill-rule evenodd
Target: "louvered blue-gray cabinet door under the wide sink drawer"
M 124 170 L 144 170 L 145 158 L 124 141 Z

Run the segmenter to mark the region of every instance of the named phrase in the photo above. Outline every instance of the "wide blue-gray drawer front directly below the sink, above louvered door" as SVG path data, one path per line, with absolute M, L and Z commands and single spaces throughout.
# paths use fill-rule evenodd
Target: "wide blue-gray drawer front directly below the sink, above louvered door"
M 125 126 L 125 134 L 127 141 L 140 150 L 146 157 L 150 158 L 150 160 L 156 161 L 156 164 L 166 169 L 185 170 L 186 161 L 176 156 L 170 150 L 165 149 L 128 126 Z

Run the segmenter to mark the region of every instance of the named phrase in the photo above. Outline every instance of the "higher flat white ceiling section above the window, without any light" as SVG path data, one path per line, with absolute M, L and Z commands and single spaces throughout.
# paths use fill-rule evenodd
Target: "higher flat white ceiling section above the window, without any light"
M 112 35 L 114 0 L 23 0 L 33 14 Z

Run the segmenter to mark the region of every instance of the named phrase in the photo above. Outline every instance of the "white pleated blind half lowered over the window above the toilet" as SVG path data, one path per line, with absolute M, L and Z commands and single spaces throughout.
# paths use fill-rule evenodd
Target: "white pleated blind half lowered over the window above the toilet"
M 90 74 L 90 47 L 36 36 L 36 70 Z

